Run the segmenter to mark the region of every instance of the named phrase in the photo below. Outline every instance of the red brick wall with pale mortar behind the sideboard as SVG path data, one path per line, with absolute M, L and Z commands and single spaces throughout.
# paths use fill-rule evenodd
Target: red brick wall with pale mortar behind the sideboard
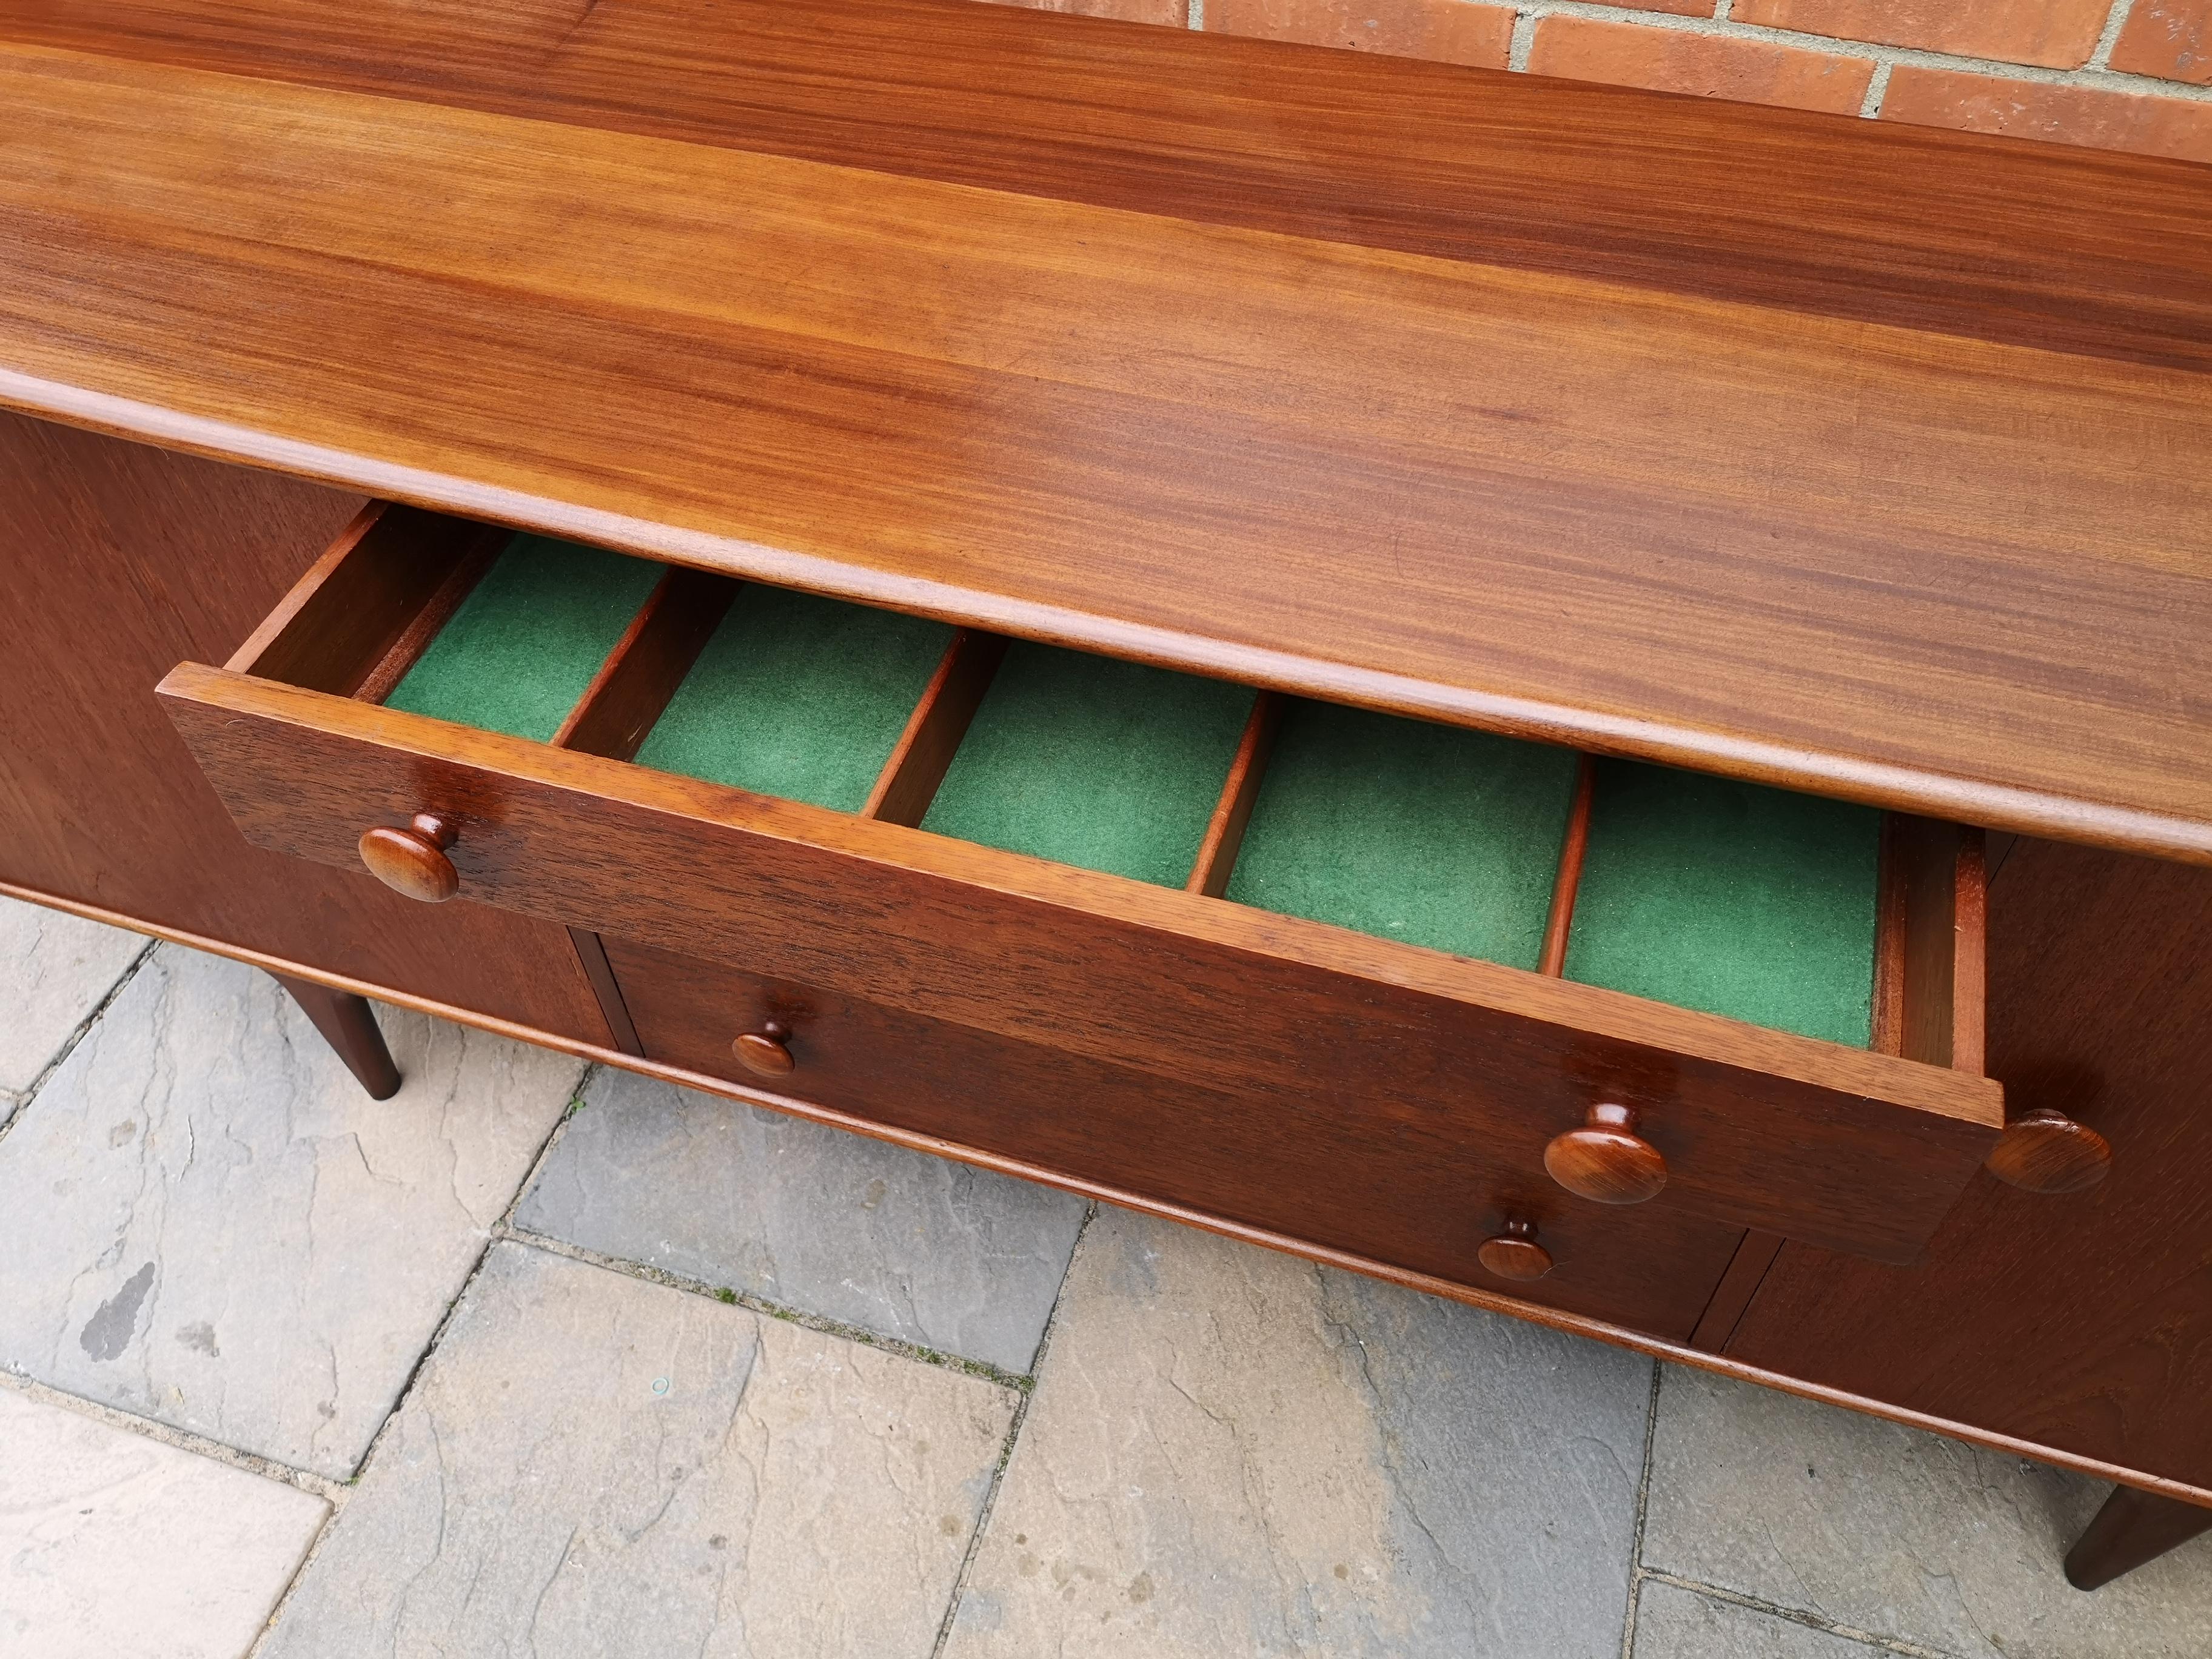
M 2212 0 L 1015 0 L 2212 161 Z

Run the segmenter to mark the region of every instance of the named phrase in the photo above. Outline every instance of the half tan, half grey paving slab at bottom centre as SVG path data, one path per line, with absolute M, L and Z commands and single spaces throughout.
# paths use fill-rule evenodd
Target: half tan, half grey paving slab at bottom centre
M 1099 1210 L 949 1659 L 1617 1659 L 1650 1363 Z

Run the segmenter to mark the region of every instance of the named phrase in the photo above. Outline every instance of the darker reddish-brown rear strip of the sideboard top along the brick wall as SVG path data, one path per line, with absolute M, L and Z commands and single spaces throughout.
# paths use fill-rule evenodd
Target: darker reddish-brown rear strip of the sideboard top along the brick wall
M 7 33 L 1900 330 L 2212 358 L 2203 186 L 2150 157 L 933 0 L 418 0 L 403 27 L 345 0 L 42 0 Z

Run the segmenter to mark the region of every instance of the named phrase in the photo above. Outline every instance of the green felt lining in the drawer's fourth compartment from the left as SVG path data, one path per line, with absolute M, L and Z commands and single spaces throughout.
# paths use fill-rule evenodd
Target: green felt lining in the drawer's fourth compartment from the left
M 1575 754 L 1294 701 L 1228 898 L 1533 969 Z

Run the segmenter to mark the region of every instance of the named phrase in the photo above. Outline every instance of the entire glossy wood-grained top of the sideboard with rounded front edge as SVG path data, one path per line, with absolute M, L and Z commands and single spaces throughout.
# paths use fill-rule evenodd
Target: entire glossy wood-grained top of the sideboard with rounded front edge
M 2212 863 L 2212 168 L 933 0 L 58 0 L 0 106 L 0 403 Z

